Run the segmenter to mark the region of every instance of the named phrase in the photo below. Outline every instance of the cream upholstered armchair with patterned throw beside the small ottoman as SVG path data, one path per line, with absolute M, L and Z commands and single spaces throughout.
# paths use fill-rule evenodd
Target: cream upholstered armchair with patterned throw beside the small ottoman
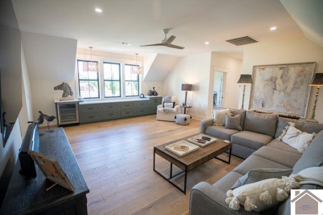
M 165 102 L 165 100 L 167 101 L 167 97 L 165 96 L 161 105 L 157 106 L 156 119 L 175 122 L 175 116 L 181 113 L 181 107 L 178 104 L 177 96 L 172 96 L 171 102 Z

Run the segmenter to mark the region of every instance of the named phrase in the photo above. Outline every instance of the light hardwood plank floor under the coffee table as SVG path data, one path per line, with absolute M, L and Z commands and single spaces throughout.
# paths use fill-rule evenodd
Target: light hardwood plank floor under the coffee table
M 214 183 L 242 162 L 217 159 L 188 173 L 187 194 L 153 172 L 153 147 L 199 132 L 200 121 L 188 125 L 157 121 L 155 115 L 65 127 L 90 189 L 89 214 L 188 214 L 191 188 Z M 221 155 L 224 159 L 227 154 Z M 156 156 L 156 168 L 169 174 L 170 164 Z M 183 176 L 176 178 L 183 184 Z

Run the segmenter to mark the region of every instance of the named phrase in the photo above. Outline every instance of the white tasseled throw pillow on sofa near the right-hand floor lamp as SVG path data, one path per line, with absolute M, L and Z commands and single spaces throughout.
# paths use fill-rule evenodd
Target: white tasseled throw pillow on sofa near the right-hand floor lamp
M 294 125 L 294 123 L 291 123 L 282 141 L 297 149 L 298 152 L 303 153 L 316 134 L 302 132 L 295 128 Z

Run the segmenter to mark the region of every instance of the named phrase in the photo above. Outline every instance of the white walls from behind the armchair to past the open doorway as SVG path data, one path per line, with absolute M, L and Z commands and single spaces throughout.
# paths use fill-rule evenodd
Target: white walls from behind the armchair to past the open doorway
M 164 95 L 178 96 L 184 103 L 185 92 L 182 84 L 193 84 L 193 91 L 188 92 L 187 101 L 193 108 L 190 114 L 195 119 L 211 116 L 213 106 L 214 71 L 226 73 L 226 86 L 223 107 L 238 108 L 239 85 L 242 60 L 226 56 L 221 52 L 208 52 L 179 58 L 164 81 Z

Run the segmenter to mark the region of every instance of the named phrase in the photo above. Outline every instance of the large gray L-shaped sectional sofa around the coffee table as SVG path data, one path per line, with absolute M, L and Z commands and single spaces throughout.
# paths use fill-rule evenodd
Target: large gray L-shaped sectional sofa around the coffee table
M 243 206 L 238 211 L 229 208 L 225 202 L 226 192 L 236 181 L 251 169 L 278 168 L 291 169 L 296 174 L 308 167 L 323 166 L 323 124 L 278 117 L 275 114 L 260 114 L 251 111 L 232 110 L 233 115 L 241 117 L 241 131 L 225 126 L 213 125 L 212 119 L 201 121 L 200 132 L 207 133 L 233 142 L 233 154 L 245 158 L 233 171 L 213 185 L 200 182 L 192 188 L 190 196 L 190 215 L 195 214 L 259 214 L 248 212 Z M 275 116 L 274 116 L 275 115 Z M 243 118 L 243 120 L 242 120 Z M 295 127 L 308 132 L 318 133 L 303 154 L 276 138 L 286 125 L 294 122 Z M 322 189 L 313 184 L 301 185 L 299 189 Z M 265 214 L 290 214 L 290 198 Z

